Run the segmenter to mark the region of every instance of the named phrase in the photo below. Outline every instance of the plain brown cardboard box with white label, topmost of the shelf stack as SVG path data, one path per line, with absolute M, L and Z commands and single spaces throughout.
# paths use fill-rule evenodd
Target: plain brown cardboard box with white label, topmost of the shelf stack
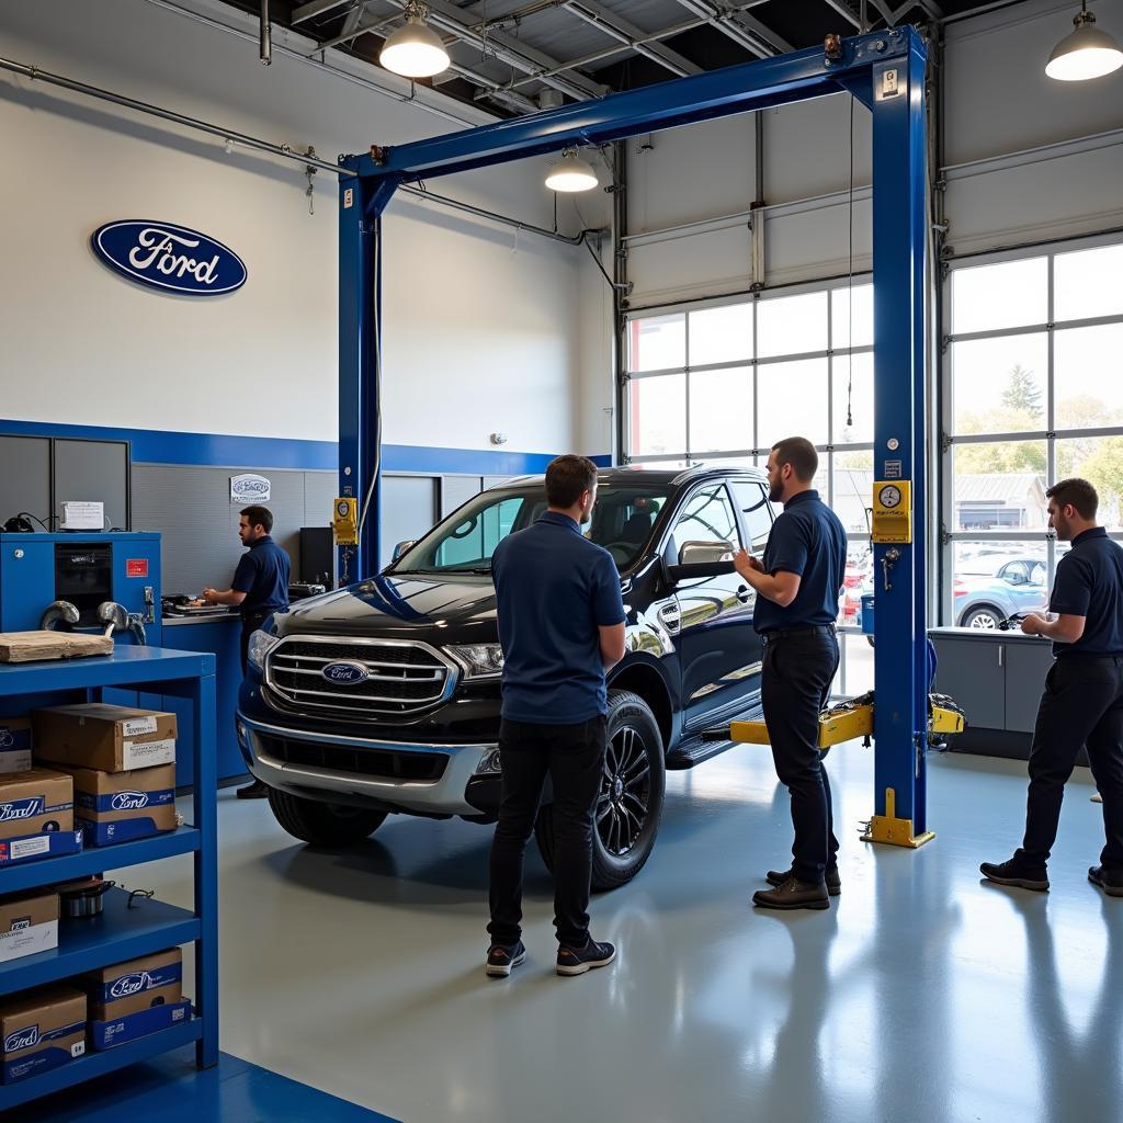
M 175 714 L 91 703 L 36 710 L 35 757 L 101 772 L 175 764 Z

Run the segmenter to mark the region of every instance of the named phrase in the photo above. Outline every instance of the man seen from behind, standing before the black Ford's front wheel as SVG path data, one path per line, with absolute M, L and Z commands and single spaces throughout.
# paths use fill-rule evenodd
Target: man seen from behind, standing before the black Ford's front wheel
M 615 958 L 588 934 L 593 811 L 606 748 L 605 674 L 624 655 L 624 610 L 612 555 L 583 537 L 596 465 L 559 456 L 546 469 L 548 509 L 492 556 L 503 648 L 503 788 L 491 850 L 486 973 L 505 978 L 526 957 L 522 857 L 542 785 L 554 788 L 557 973 L 584 975 Z

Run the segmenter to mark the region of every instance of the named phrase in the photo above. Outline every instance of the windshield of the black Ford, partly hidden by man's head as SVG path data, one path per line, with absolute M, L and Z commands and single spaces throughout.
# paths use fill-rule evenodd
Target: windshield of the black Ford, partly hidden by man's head
M 667 504 L 666 487 L 603 485 L 596 491 L 585 537 L 612 555 L 618 569 L 639 560 L 656 518 Z M 484 492 L 438 523 L 391 567 L 394 573 L 491 573 L 495 547 L 546 510 L 546 489 Z

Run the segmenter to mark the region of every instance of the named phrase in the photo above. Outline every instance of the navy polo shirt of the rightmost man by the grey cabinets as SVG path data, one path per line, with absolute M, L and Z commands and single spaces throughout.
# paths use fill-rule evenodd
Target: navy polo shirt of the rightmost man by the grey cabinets
M 1085 618 L 1084 634 L 1053 643 L 1053 655 L 1123 655 L 1123 549 L 1103 527 L 1077 535 L 1057 563 L 1049 611 Z

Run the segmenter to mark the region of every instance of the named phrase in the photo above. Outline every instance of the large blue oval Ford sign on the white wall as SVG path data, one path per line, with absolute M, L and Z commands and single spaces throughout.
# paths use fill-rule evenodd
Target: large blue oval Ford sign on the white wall
M 171 222 L 107 222 L 90 236 L 93 252 L 130 281 L 186 296 L 218 296 L 246 283 L 241 258 L 221 241 Z

